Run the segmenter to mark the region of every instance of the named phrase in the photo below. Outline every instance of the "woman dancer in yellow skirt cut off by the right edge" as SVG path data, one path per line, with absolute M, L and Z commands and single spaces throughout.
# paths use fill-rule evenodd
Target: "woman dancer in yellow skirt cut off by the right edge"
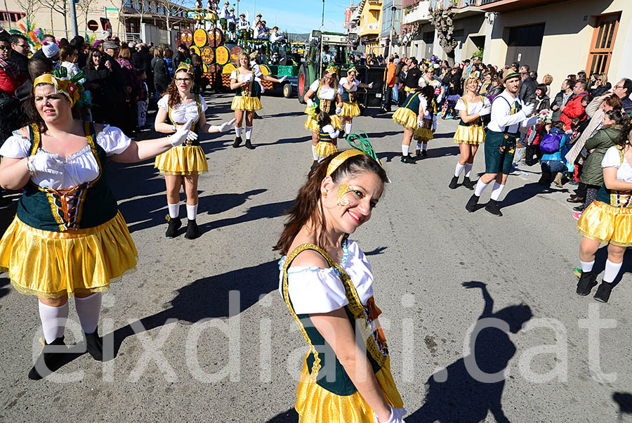
M 621 134 L 610 147 L 601 162 L 603 186 L 595 200 L 581 214 L 577 229 L 581 235 L 579 263 L 581 276 L 577 294 L 588 295 L 597 285 L 597 273 L 593 271 L 595 253 L 600 244 L 608 245 L 603 282 L 597 288 L 594 299 L 603 303 L 610 299 L 612 282 L 623 264 L 627 247 L 632 247 L 632 123 L 621 129 Z

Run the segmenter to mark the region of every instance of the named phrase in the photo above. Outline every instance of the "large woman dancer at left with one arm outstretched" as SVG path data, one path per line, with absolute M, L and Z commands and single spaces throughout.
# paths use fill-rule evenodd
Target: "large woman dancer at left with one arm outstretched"
M 0 186 L 23 189 L 17 216 L 0 240 L 0 269 L 18 292 L 39 298 L 44 330 L 44 349 L 30 379 L 62 365 L 71 295 L 88 353 L 103 360 L 101 292 L 136 266 L 136 247 L 107 185 L 108 159 L 150 159 L 183 143 L 190 126 L 169 138 L 136 143 L 113 126 L 74 119 L 79 92 L 69 79 L 35 78 L 32 122 L 0 148 Z

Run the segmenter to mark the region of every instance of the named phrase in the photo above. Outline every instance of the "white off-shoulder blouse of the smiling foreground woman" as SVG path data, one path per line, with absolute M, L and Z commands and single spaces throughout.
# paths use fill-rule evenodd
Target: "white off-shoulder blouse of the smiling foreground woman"
M 283 266 L 279 261 L 279 292 L 283 295 Z M 347 242 L 346 258 L 340 265 L 351 278 L 364 306 L 373 297 L 373 273 L 362 249 L 355 241 Z M 343 282 L 336 269 L 294 266 L 288 269 L 288 294 L 296 314 L 329 313 L 349 304 Z

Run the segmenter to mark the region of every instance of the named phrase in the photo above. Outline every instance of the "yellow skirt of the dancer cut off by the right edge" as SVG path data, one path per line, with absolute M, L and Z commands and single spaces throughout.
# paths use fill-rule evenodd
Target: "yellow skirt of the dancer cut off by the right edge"
M 577 230 L 591 240 L 632 246 L 632 209 L 593 201 L 577 222 Z

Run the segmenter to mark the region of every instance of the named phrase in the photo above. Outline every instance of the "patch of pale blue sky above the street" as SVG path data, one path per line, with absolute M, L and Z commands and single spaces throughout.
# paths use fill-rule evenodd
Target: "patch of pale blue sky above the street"
M 237 10 L 237 0 L 228 1 Z M 223 3 L 220 1 L 220 4 Z M 355 0 L 354 4 L 358 3 L 360 1 Z M 351 0 L 325 0 L 325 31 L 346 32 L 343 29 L 345 8 L 350 4 Z M 239 13 L 245 11 L 249 11 L 250 22 L 257 13 L 261 13 L 268 27 L 276 25 L 282 32 L 304 34 L 320 29 L 322 22 L 321 0 L 239 0 Z

